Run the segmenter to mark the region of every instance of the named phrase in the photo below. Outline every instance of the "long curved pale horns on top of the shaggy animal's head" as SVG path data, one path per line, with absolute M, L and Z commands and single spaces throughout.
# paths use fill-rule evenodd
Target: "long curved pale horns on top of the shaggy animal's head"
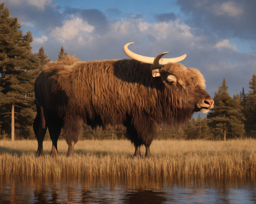
M 133 59 L 136 59 L 136 60 L 138 60 L 138 61 L 141 61 L 141 62 L 145 62 L 145 63 L 149 63 L 149 64 L 153 64 L 154 63 L 154 60 L 155 60 L 155 57 L 146 57 L 146 56 L 142 56 L 142 55 L 138 55 L 138 54 L 136 54 L 136 53 L 133 53 L 132 51 L 130 51 L 129 49 L 128 49 L 128 45 L 130 45 L 130 44 L 133 44 L 133 43 L 126 43 L 125 45 L 124 45 L 124 53 L 126 54 L 126 55 L 128 55 L 129 57 L 131 57 L 131 58 L 133 58 Z M 166 53 L 168 53 L 168 52 L 166 52 Z M 166 53 L 161 53 L 161 54 L 159 54 L 159 55 L 157 55 L 157 57 L 158 56 L 160 56 L 160 55 L 165 55 Z M 162 57 L 161 56 L 161 57 Z M 180 62 L 180 61 L 182 61 L 182 60 L 184 60 L 185 58 L 186 58 L 186 54 L 185 55 L 182 55 L 182 56 L 180 56 L 180 57 L 175 57 L 175 58 L 159 58 L 159 62 L 161 61 L 161 63 L 159 63 L 160 65 L 162 65 L 162 66 L 160 66 L 160 67 L 163 67 L 165 64 L 167 64 L 168 62 L 172 62 L 172 63 L 176 63 L 176 62 Z M 156 64 L 156 63 L 155 63 Z

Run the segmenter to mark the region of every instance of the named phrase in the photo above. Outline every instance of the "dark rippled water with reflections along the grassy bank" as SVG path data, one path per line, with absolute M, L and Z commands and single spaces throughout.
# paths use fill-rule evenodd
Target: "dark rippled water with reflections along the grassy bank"
M 256 203 L 255 184 L 28 183 L 0 187 L 0 203 Z

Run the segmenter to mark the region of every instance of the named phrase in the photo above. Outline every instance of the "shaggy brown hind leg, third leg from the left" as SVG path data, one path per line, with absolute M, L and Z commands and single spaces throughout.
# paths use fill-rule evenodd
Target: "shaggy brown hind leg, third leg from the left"
M 67 157 L 74 155 L 74 145 L 77 143 L 81 134 L 83 119 L 79 116 L 65 117 L 63 124 L 63 134 L 68 143 Z

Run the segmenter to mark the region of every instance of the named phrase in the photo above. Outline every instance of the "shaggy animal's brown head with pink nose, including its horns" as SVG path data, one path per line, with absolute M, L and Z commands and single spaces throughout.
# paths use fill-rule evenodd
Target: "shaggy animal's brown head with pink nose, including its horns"
M 156 57 L 145 57 L 131 52 L 127 47 L 132 43 L 124 45 L 124 52 L 129 57 L 141 62 L 152 64 L 153 77 L 161 77 L 163 84 L 172 93 L 184 97 L 187 102 L 194 106 L 194 111 L 206 113 L 213 108 L 214 100 L 205 91 L 205 79 L 199 70 L 186 68 L 180 63 L 187 56 L 176 58 L 161 58 L 168 52 L 161 53 Z

